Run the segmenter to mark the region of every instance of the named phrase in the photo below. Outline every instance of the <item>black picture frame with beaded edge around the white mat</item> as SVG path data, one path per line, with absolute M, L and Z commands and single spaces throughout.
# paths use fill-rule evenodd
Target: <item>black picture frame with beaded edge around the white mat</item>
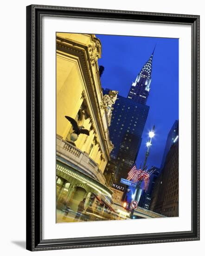
M 188 24 L 192 27 L 192 230 L 42 239 L 41 20 L 43 16 Z M 26 7 L 26 249 L 31 251 L 199 240 L 199 16 L 30 5 Z

